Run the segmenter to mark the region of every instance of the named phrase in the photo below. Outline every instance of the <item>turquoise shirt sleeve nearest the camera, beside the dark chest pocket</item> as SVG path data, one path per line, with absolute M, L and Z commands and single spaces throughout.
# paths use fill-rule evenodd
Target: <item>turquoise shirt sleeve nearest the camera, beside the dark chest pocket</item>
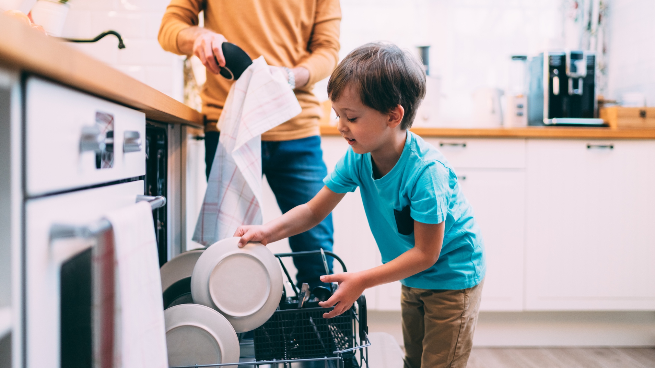
M 441 162 L 426 164 L 409 195 L 412 219 L 420 223 L 445 221 L 453 196 L 450 179 L 451 171 Z

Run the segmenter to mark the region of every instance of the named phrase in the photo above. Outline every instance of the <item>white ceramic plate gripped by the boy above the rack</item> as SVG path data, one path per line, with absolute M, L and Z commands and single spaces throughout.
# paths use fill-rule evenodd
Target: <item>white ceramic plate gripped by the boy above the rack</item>
M 259 243 L 238 248 L 238 237 L 207 248 L 193 268 L 193 302 L 218 310 L 234 331 L 253 330 L 269 320 L 282 297 L 282 271 Z

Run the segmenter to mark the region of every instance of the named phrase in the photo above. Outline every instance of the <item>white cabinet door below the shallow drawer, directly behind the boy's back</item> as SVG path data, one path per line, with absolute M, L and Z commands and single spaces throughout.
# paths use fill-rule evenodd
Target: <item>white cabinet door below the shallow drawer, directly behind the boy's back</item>
M 480 310 L 523 310 L 525 171 L 455 170 L 485 242 Z

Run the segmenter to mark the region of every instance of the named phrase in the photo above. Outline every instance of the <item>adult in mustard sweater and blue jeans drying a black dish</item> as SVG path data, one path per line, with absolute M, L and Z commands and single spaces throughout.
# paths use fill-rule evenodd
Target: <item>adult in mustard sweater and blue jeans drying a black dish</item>
M 198 13 L 204 10 L 204 28 Z M 261 136 L 262 170 L 282 212 L 308 202 L 323 187 L 327 175 L 320 148 L 318 121 L 322 109 L 312 93 L 314 83 L 330 75 L 339 60 L 339 0 L 172 0 L 159 29 L 164 50 L 196 55 L 207 68 L 200 96 L 205 116 L 207 176 L 214 161 L 219 131 L 216 122 L 233 81 L 221 77 L 225 65 L 221 44 L 240 46 L 252 58 L 263 55 L 274 67 L 284 67 L 302 112 Z M 293 251 L 331 250 L 331 216 L 307 232 L 291 236 Z M 328 257 L 331 269 L 331 257 Z M 297 282 L 323 285 L 325 274 L 317 255 L 295 257 Z

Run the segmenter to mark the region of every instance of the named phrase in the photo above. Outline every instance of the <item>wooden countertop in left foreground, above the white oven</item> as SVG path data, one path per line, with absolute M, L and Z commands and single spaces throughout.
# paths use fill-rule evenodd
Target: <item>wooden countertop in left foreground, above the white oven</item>
M 0 65 L 143 111 L 147 119 L 202 126 L 202 115 L 191 107 L 3 14 Z

